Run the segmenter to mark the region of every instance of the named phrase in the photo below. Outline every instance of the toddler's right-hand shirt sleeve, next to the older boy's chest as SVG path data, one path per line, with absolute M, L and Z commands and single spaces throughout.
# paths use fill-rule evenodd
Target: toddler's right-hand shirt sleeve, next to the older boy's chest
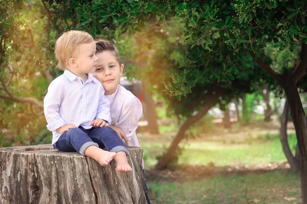
M 100 91 L 100 99 L 98 103 L 98 108 L 97 108 L 97 114 L 95 119 L 100 118 L 105 121 L 109 125 L 111 125 L 111 115 L 110 115 L 110 101 L 109 99 L 104 95 L 104 90 L 101 89 Z

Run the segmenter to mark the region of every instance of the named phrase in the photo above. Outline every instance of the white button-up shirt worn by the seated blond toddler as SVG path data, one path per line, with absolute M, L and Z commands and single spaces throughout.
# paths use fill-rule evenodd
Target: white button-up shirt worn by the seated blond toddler
M 43 111 L 47 129 L 53 134 L 52 145 L 61 135 L 56 130 L 65 124 L 90 129 L 96 118 L 111 121 L 109 100 L 104 96 L 101 83 L 91 73 L 84 83 L 81 77 L 65 70 L 49 85 Z

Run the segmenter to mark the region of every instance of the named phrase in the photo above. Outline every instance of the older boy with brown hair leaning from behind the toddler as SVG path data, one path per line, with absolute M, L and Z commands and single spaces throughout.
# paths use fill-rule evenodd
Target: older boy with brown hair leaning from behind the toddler
M 143 113 L 141 101 L 130 91 L 119 85 L 124 65 L 121 64 L 117 48 L 107 40 L 96 40 L 98 57 L 96 72 L 93 75 L 101 82 L 105 95 L 110 101 L 111 127 L 119 133 L 121 129 L 128 138 L 128 145 L 140 147 L 136 135 L 138 121 Z M 145 174 L 144 174 L 145 181 Z M 145 184 L 146 200 L 147 186 Z

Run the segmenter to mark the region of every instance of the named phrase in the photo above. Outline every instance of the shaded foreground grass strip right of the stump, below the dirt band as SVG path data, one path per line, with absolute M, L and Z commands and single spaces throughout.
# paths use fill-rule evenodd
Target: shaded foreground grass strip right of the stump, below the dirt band
M 285 171 L 245 176 L 217 174 L 196 181 L 149 182 L 148 187 L 152 203 L 294 203 L 301 201 L 299 176 Z M 287 198 L 292 200 L 288 201 Z

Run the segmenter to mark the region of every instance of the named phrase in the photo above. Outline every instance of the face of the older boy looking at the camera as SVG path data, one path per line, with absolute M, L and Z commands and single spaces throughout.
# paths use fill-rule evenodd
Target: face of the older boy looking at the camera
M 105 95 L 113 94 L 123 75 L 124 65 L 119 65 L 116 57 L 110 51 L 100 52 L 97 57 L 97 67 L 93 75 L 101 82 Z

